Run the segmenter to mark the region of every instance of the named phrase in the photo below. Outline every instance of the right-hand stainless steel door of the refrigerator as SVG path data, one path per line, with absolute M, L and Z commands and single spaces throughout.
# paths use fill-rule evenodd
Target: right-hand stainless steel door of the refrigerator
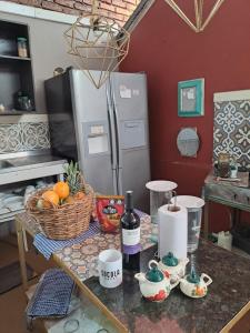
M 129 89 L 131 98 L 121 98 L 120 89 Z M 118 188 L 119 193 L 133 191 L 134 205 L 149 211 L 149 193 L 146 183 L 150 180 L 149 133 L 147 81 L 144 74 L 112 73 L 111 89 L 113 112 L 116 114 L 116 130 L 118 142 Z M 128 121 L 142 121 L 144 124 L 144 144 L 124 148 L 122 125 Z M 137 135 L 140 133 L 137 132 Z M 143 140 L 142 140 L 143 141 Z M 132 145 L 134 142 L 131 142 Z M 136 144 L 134 144 L 136 145 Z

